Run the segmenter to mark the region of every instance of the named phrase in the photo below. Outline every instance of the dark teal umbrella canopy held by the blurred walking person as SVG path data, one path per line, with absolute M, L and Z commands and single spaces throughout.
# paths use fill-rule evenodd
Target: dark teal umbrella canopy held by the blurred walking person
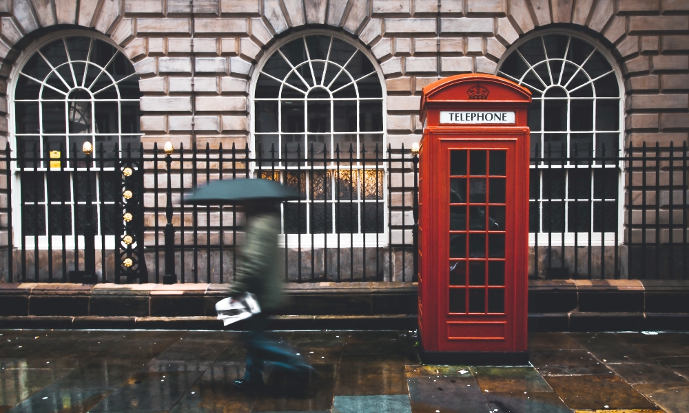
M 294 189 L 274 180 L 237 178 L 214 180 L 185 196 L 185 204 L 247 204 L 303 200 Z

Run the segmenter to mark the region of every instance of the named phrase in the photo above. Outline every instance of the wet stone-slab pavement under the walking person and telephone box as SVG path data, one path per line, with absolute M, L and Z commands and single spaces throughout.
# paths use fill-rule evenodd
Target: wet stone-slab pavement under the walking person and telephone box
M 404 331 L 271 332 L 318 371 L 238 392 L 237 332 L 0 330 L 2 412 L 689 412 L 689 334 L 542 333 L 524 367 L 422 366 Z

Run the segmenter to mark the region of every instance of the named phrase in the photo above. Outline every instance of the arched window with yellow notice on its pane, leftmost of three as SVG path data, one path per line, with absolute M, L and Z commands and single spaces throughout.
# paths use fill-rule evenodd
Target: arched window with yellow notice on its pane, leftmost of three
M 83 234 L 87 180 L 79 159 L 89 141 L 96 158 L 94 226 L 96 233 L 114 234 L 121 178 L 114 162 L 104 161 L 129 146 L 138 153 L 141 92 L 132 63 L 94 36 L 52 36 L 29 54 L 13 83 L 21 233 Z

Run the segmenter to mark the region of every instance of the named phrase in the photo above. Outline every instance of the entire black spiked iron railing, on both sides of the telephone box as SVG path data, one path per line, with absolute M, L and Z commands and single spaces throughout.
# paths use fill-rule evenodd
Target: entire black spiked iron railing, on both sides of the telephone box
M 166 149 L 6 149 L 2 279 L 231 282 L 243 210 L 183 195 L 248 177 L 305 195 L 281 206 L 287 281 L 415 280 L 418 157 L 408 149 Z M 529 276 L 688 279 L 687 163 L 686 143 L 533 148 Z

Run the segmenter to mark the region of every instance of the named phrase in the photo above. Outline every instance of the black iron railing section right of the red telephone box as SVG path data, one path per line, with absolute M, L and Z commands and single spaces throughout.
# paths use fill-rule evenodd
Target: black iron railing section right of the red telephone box
M 686 142 L 535 147 L 529 276 L 687 279 L 687 156 Z

